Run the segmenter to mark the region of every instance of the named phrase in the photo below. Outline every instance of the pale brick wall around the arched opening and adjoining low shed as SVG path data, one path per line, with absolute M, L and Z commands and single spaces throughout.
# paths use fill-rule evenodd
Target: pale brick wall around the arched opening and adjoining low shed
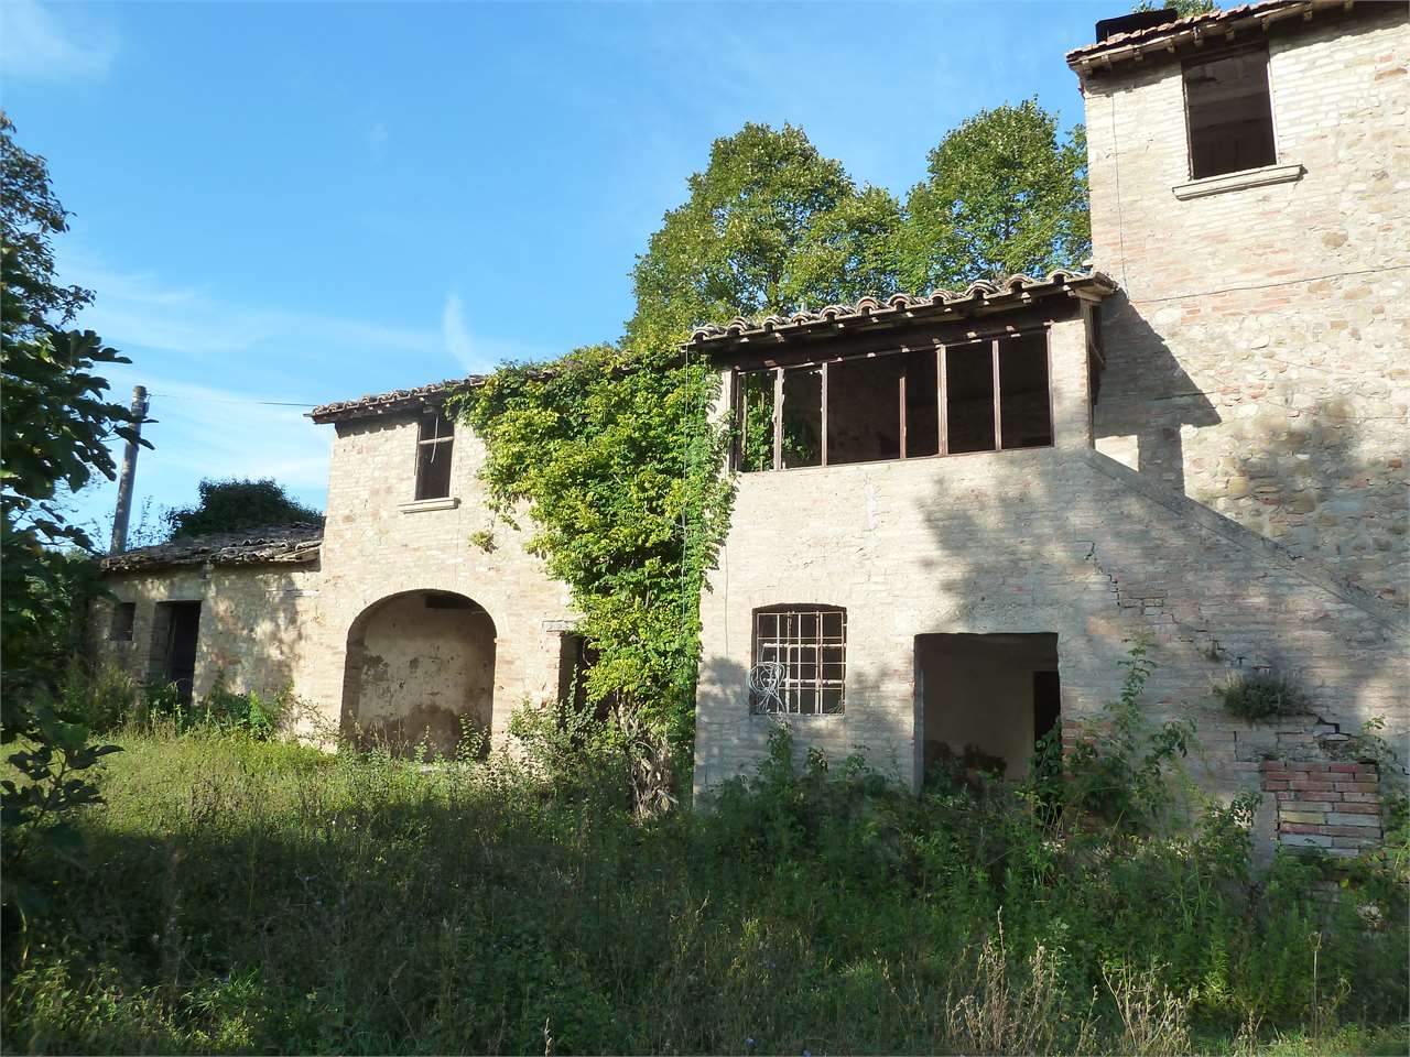
M 343 723 L 350 634 L 357 619 L 410 592 L 462 595 L 494 623 L 492 707 L 475 705 L 502 744 L 510 713 L 525 702 L 553 700 L 571 633 L 567 588 L 523 550 L 523 534 L 496 521 L 475 474 L 484 444 L 455 438 L 448 500 L 412 503 L 415 416 L 352 420 L 337 426 L 329 479 L 329 509 L 320 561 L 312 565 L 175 567 L 109 574 L 123 602 L 137 602 L 133 640 L 109 641 L 110 603 L 93 614 L 100 657 L 138 678 L 152 662 L 155 606 L 202 602 L 195 693 L 223 674 L 233 689 L 275 692 L 286 686 L 313 706 L 306 733 L 327 736 Z M 471 534 L 489 530 L 484 550 Z M 396 605 L 395 602 L 392 603 Z M 443 637 L 426 636 L 426 665 L 444 660 Z M 415 643 L 403 643 L 403 668 L 419 665 Z M 471 679 L 475 682 L 481 675 Z M 352 695 L 355 698 L 355 693 Z M 475 699 L 484 698 L 478 691 Z M 412 702 L 407 702 L 412 707 Z M 481 713 L 488 712 L 488 716 Z M 386 723 L 385 707 L 376 710 Z

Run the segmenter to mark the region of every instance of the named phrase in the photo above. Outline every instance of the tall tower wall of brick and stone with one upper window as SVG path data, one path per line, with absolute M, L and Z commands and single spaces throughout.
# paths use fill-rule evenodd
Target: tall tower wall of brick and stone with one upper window
M 1290 182 L 1177 199 L 1180 63 L 1083 86 L 1094 259 L 1122 286 L 1097 448 L 1404 603 L 1410 18 L 1358 4 L 1268 44 Z

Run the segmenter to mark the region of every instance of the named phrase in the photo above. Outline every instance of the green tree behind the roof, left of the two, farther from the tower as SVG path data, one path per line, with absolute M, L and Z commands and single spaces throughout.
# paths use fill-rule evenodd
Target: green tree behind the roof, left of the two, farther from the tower
M 895 199 L 859 189 L 801 130 L 746 124 L 715 141 L 688 186 L 637 258 L 632 347 L 661 350 L 735 316 L 894 292 Z

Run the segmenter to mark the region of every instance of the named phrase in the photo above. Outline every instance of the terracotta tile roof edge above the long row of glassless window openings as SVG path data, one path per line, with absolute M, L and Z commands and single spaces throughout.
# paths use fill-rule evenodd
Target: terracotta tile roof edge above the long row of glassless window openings
M 887 299 L 863 297 L 856 304 L 829 304 L 816 311 L 797 311 L 792 316 L 766 316 L 761 320 L 736 317 L 723 327 L 698 327 L 689 344 L 749 340 L 759 335 L 802 334 L 816 330 L 845 328 L 857 323 L 911 321 L 921 317 L 963 317 L 983 310 L 1018 307 L 1045 295 L 1089 290 L 1105 296 L 1117 289 L 1117 283 L 1093 269 L 1058 268 L 1035 279 L 1028 275 L 1011 275 L 1007 279 L 980 280 L 963 290 L 936 290 L 921 297 L 897 293 Z

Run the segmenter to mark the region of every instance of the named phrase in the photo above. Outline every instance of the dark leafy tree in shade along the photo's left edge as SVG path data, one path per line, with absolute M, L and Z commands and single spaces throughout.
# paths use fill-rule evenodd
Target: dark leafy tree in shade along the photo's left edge
M 134 426 L 93 373 L 128 361 L 93 331 L 63 330 L 93 296 L 55 282 L 52 238 L 66 228 L 44 158 L 16 144 L 0 114 L 0 741 L 16 747 L 8 761 L 24 775 L 0 784 L 7 929 L 11 909 L 35 905 L 23 861 L 28 834 L 72 848 L 73 830 L 47 823 L 97 799 L 73 775 L 111 751 L 90 747 L 86 727 L 55 707 L 73 622 L 99 591 L 92 562 L 73 557 L 92 541 L 69 524 L 62 497 L 94 471 L 113 478 L 107 443 Z

